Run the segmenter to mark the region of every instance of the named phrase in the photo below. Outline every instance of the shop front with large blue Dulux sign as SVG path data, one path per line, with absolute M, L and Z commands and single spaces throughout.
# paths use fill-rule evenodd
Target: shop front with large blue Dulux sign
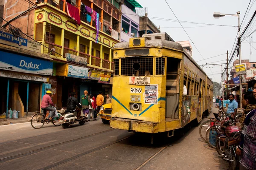
M 52 75 L 52 62 L 0 51 L 0 113 L 19 111 L 19 118 L 40 111 L 44 87 Z M 3 57 L 2 57 L 3 56 Z

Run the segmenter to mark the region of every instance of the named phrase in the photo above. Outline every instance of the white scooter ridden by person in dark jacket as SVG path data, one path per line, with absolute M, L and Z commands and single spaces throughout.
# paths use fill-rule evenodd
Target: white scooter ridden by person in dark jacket
M 74 111 L 65 110 L 63 112 L 64 112 L 62 113 L 63 116 L 61 116 L 60 118 L 60 123 L 64 129 L 68 128 L 69 125 L 73 125 L 74 123 L 77 123 L 77 122 L 79 122 L 80 125 L 84 125 L 84 123 L 86 122 L 86 117 L 83 114 L 83 111 L 81 111 L 81 115 L 79 119 L 77 119 L 78 112 L 75 110 Z

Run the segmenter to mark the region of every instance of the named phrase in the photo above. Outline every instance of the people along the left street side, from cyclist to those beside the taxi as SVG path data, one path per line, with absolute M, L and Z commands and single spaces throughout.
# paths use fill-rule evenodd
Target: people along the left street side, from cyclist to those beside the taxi
M 41 108 L 44 111 L 50 111 L 49 119 L 55 115 L 55 105 L 52 102 L 52 92 L 47 91 L 46 94 L 43 96 L 41 102 Z M 112 102 L 111 97 L 107 94 L 107 104 Z M 81 103 L 81 105 L 80 105 Z M 67 110 L 76 111 L 77 112 L 77 119 L 81 119 L 81 111 L 87 117 L 87 122 L 90 121 L 90 116 L 92 115 L 93 120 L 97 120 L 97 113 L 99 113 L 100 107 L 104 104 L 104 96 L 102 95 L 102 91 L 99 91 L 99 95 L 95 98 L 92 94 L 88 94 L 88 91 L 84 91 L 84 95 L 81 96 L 81 101 L 78 102 L 76 98 L 76 93 L 72 92 L 68 99 L 67 99 Z

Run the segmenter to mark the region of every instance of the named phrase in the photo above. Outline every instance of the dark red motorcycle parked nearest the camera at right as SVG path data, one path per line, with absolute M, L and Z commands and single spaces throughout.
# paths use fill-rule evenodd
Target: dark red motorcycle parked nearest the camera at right
M 236 156 L 236 148 L 240 142 L 241 128 L 233 125 L 232 119 L 227 117 L 221 122 L 221 135 L 216 141 L 216 150 L 219 157 L 230 162 L 232 170 L 239 167 L 238 156 Z

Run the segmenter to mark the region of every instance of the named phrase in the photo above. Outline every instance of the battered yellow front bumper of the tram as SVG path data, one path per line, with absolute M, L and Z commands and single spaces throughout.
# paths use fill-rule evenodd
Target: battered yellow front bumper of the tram
M 159 130 L 157 125 L 158 123 L 156 122 L 122 119 L 116 117 L 110 119 L 110 127 L 114 129 L 130 130 L 134 132 L 158 133 Z

